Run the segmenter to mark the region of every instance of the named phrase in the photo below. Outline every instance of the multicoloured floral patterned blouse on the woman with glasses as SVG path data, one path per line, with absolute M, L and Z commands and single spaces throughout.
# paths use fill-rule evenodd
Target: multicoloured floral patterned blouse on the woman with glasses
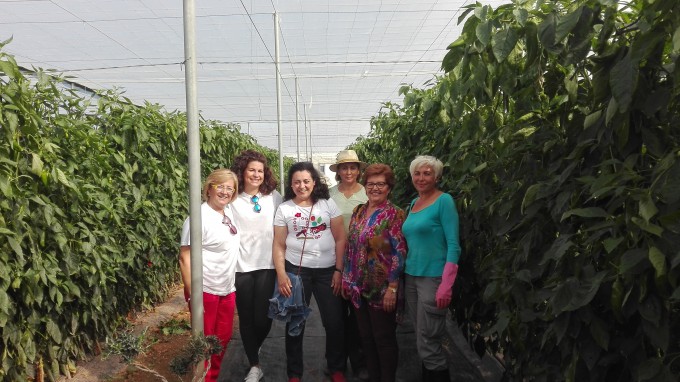
M 361 204 L 352 213 L 342 286 L 355 307 L 363 297 L 370 307 L 382 309 L 387 285 L 399 281 L 404 271 L 408 250 L 401 226 L 405 214 L 389 201 L 371 216 L 366 216 L 367 209 L 368 203 Z

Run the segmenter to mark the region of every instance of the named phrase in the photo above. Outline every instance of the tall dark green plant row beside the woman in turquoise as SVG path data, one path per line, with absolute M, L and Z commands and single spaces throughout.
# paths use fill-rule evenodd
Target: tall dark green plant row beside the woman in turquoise
M 680 2 L 470 5 L 445 74 L 353 145 L 445 164 L 453 309 L 506 380 L 680 378 Z M 393 198 L 414 197 L 403 183 Z

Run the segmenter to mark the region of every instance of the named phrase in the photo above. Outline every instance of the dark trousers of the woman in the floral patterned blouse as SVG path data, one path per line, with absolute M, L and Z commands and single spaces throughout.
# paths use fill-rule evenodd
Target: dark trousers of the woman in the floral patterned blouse
M 399 362 L 396 312 L 372 308 L 365 298 L 354 312 L 371 381 L 394 382 Z

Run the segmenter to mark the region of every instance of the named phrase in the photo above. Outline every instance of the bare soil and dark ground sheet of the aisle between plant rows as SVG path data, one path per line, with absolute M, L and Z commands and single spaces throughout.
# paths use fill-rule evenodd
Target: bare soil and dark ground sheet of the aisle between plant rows
M 304 380 L 307 382 L 324 382 L 328 377 L 325 369 L 325 334 L 318 309 L 312 300 L 312 314 L 307 321 L 304 340 Z M 172 321 L 173 324 L 168 323 Z M 137 333 L 145 328 L 147 337 L 153 339 L 146 353 L 137 358 L 137 362 L 156 370 L 168 381 L 191 381 L 187 375 L 180 379 L 170 371 L 170 361 L 174 359 L 189 342 L 191 333 L 164 335 L 162 328 L 178 326 L 177 322 L 190 321 L 188 307 L 184 302 L 182 289 L 177 287 L 172 296 L 164 304 L 153 311 L 140 315 L 134 320 Z M 451 380 L 457 382 L 497 382 L 500 381 L 502 370 L 497 362 L 488 356 L 479 358 L 465 342 L 458 326 L 451 321 L 448 326 L 449 339 L 445 344 L 450 361 Z M 272 330 L 265 341 L 260 353 L 260 360 L 265 372 L 264 381 L 286 381 L 285 360 L 285 326 L 275 321 Z M 397 382 L 419 382 L 420 361 L 415 349 L 415 335 L 410 322 L 404 322 L 397 328 L 399 342 L 399 369 Z M 348 367 L 349 368 L 349 367 Z M 238 331 L 238 315 L 234 318 L 234 334 L 227 347 L 219 382 L 243 381 L 248 371 L 248 361 L 243 351 Z M 358 382 L 353 377 L 351 369 L 347 372 L 348 382 Z M 120 357 L 102 359 L 94 357 L 89 362 L 79 363 L 77 372 L 71 379 L 62 378 L 60 382 L 155 382 L 159 378 L 143 372 L 135 367 L 126 366 L 120 362 Z

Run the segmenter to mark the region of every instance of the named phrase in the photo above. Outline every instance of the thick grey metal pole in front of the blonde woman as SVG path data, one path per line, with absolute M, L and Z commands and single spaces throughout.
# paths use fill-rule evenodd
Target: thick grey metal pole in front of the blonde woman
M 196 101 L 196 28 L 194 0 L 184 0 L 187 147 L 189 150 L 189 219 L 191 242 L 191 331 L 203 333 L 203 258 L 201 254 L 201 138 Z

